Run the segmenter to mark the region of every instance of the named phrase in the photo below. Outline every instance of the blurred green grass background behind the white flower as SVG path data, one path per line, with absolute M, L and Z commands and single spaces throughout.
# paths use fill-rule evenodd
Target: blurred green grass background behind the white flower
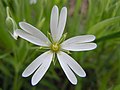
M 44 51 L 11 37 L 9 32 L 13 29 L 12 24 L 6 23 L 6 7 L 17 25 L 26 21 L 47 35 L 54 5 L 68 9 L 67 38 L 93 34 L 98 47 L 72 52 L 71 56 L 87 73 L 85 78 L 77 76 L 77 85 L 68 81 L 57 61 L 32 86 L 32 76 L 22 78 L 21 74 Z M 120 0 L 38 0 L 36 4 L 29 0 L 0 0 L 0 90 L 120 90 Z

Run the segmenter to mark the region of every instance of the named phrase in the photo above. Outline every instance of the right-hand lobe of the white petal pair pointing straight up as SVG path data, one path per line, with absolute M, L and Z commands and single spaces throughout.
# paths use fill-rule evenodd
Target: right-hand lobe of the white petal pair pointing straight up
M 64 28 L 66 25 L 66 19 L 67 19 L 67 8 L 63 7 L 60 12 L 60 18 L 59 18 L 58 29 L 57 29 L 58 33 L 56 35 L 57 36 L 56 41 L 59 41 L 63 34 Z

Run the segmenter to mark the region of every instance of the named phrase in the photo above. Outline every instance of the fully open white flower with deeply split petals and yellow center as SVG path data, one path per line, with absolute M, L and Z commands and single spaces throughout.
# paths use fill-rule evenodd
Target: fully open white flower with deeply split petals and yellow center
M 87 51 L 95 49 L 97 46 L 95 43 L 91 43 L 91 41 L 95 40 L 94 35 L 76 36 L 60 43 L 66 24 L 67 8 L 62 8 L 60 16 L 58 12 L 58 7 L 54 6 L 50 20 L 52 41 L 32 25 L 26 22 L 19 23 L 22 30 L 17 30 L 17 34 L 21 38 L 35 45 L 50 49 L 37 57 L 22 73 L 23 77 L 28 77 L 35 72 L 31 80 L 32 85 L 36 85 L 44 76 L 55 54 L 69 81 L 72 84 L 77 84 L 77 78 L 74 73 L 80 77 L 85 77 L 86 73 L 82 67 L 64 51 Z

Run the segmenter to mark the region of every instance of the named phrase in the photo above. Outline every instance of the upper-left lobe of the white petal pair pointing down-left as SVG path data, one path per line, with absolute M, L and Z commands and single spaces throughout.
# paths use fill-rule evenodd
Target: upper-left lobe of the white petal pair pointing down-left
M 49 59 L 52 57 L 52 53 L 50 51 L 47 51 L 45 53 L 43 53 L 42 55 L 40 55 L 39 57 L 37 57 L 22 73 L 23 77 L 28 77 L 30 76 L 39 66 L 43 65 L 44 63 L 46 63 L 47 61 L 49 61 Z

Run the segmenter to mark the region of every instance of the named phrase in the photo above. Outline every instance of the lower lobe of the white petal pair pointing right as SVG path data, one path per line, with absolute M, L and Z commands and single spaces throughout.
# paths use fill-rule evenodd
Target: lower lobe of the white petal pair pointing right
M 97 45 L 95 43 L 72 43 L 69 45 L 61 45 L 62 49 L 70 51 L 88 51 L 96 47 Z

